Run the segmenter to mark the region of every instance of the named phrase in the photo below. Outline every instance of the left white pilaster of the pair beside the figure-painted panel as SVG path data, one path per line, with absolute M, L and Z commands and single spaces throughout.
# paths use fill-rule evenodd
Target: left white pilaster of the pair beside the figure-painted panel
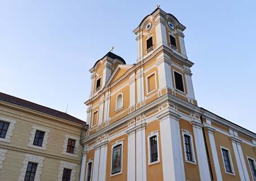
M 128 165 L 127 165 L 127 180 L 136 180 L 136 150 L 135 150 L 135 131 L 128 132 Z

